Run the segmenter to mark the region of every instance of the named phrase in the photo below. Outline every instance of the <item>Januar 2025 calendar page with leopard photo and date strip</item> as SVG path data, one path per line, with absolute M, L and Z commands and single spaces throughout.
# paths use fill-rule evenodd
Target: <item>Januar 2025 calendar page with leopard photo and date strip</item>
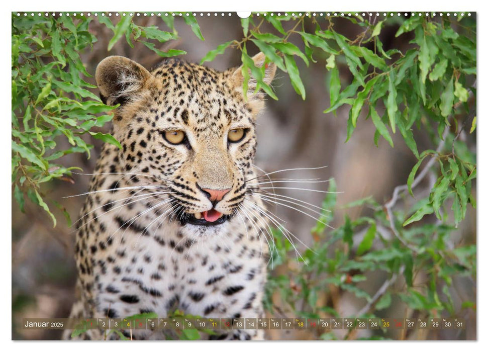
M 477 339 L 476 12 L 315 10 L 12 12 L 13 340 Z

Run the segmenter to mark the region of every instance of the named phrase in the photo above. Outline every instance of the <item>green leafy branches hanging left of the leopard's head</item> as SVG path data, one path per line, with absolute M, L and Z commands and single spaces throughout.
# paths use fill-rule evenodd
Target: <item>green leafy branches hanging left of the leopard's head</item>
M 94 14 L 93 14 L 94 15 Z M 161 57 L 185 54 L 182 50 L 158 49 L 159 43 L 178 38 L 173 18 L 163 16 L 171 32 L 155 26 L 143 27 L 133 22 L 130 13 L 109 18 L 106 13 L 93 16 L 17 16 L 12 14 L 12 184 L 14 198 L 22 211 L 25 198 L 42 207 L 56 225 L 48 203 L 66 210 L 52 200 L 45 200 L 42 186 L 55 179 L 63 180 L 77 168 L 59 160 L 71 153 L 87 153 L 91 138 L 120 147 L 110 134 L 96 129 L 112 119 L 112 110 L 91 92 L 96 87 L 86 79 L 80 55 L 91 50 L 97 38 L 89 26 L 98 21 L 113 32 L 111 50 L 122 38 L 134 47 L 142 42 Z M 203 40 L 196 19 L 183 17 L 193 32 Z M 69 147 L 63 147 L 62 139 Z

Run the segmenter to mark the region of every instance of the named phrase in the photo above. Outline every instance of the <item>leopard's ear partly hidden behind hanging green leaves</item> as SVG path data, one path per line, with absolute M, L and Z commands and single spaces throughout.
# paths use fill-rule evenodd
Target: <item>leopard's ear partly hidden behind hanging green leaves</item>
M 269 62 L 265 64 L 265 59 L 266 56 L 262 53 L 259 52 L 258 54 L 254 55 L 252 57 L 252 60 L 254 61 L 254 65 L 256 67 L 262 67 L 263 65 L 266 65 L 265 70 L 264 70 L 264 77 L 263 81 L 270 85 L 273 78 L 274 74 L 276 73 L 276 65 L 273 62 Z M 238 68 L 233 68 L 231 69 L 232 72 L 230 74 L 230 79 L 235 87 L 235 89 L 243 94 L 243 83 L 244 83 L 244 76 L 242 75 L 242 66 L 239 66 Z M 249 72 L 250 74 L 250 72 Z M 256 85 L 257 85 L 257 80 L 250 74 L 251 78 L 249 78 L 247 82 L 247 99 L 248 99 L 248 105 L 254 110 L 255 112 L 258 112 L 264 103 L 262 100 L 264 99 L 264 92 L 262 90 L 259 90 L 259 92 L 254 93 L 256 90 Z

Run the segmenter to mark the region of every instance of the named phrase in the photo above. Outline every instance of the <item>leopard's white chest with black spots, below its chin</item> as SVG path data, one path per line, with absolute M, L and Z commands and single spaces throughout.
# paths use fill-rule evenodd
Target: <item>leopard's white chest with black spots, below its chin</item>
M 161 213 L 144 213 L 147 209 L 140 204 L 87 217 L 78 242 L 96 250 L 78 252 L 77 261 L 90 268 L 80 279 L 89 285 L 92 314 L 121 318 L 155 312 L 165 317 L 180 309 L 232 317 L 246 308 L 255 317 L 250 302 L 260 300 L 266 275 L 264 240 L 257 228 L 234 218 L 219 236 L 191 238 L 175 221 L 154 221 Z M 93 222 L 97 226 L 90 227 Z

